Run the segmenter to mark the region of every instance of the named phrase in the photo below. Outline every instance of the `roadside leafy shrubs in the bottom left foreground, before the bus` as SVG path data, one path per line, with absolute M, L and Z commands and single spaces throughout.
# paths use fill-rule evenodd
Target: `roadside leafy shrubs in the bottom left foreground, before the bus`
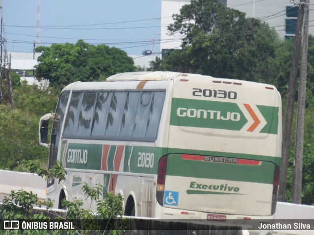
M 49 170 L 41 168 L 38 161 L 26 161 L 22 163 L 26 169 L 36 173 L 41 177 L 54 178 L 62 186 L 62 181 L 66 180 L 67 172 L 62 164 L 56 162 Z M 20 220 L 20 228 L 27 228 L 29 219 L 38 221 L 40 225 L 37 229 L 26 229 L 23 234 L 29 235 L 57 235 L 57 234 L 95 234 L 95 235 L 119 235 L 121 231 L 127 229 L 128 219 L 122 218 L 123 198 L 121 195 L 115 195 L 113 192 L 107 192 L 102 195 L 103 186 L 97 184 L 95 187 L 89 187 L 84 183 L 83 192 L 92 203 L 96 203 L 98 213 L 91 213 L 91 209 L 84 209 L 82 200 L 62 200 L 62 206 L 67 208 L 66 213 L 57 213 L 51 211 L 53 204 L 50 199 L 41 202 L 37 194 L 27 192 L 23 189 L 12 190 L 9 197 L 4 197 L 0 204 L 0 226 L 3 228 L 4 220 Z M 66 190 L 66 188 L 64 188 Z M 72 197 L 72 195 L 70 195 Z M 38 209 L 39 208 L 39 209 Z M 34 211 L 36 209 L 37 211 Z M 40 210 L 41 209 L 41 210 Z M 22 222 L 23 221 L 23 222 Z M 66 222 L 71 230 L 58 231 L 50 229 L 50 222 Z M 23 224 L 24 223 L 24 224 Z M 31 227 L 32 228 L 32 227 Z M 2 230 L 0 234 L 20 234 L 21 230 Z

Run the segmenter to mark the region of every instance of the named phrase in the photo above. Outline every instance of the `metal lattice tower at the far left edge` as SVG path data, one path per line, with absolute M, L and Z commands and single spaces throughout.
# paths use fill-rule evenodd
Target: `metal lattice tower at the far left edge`
M 1 29 L 0 29 L 0 102 L 7 100 L 15 108 L 13 100 L 12 82 L 10 76 L 10 61 L 6 49 L 6 39 L 3 22 L 2 1 L 0 0 Z

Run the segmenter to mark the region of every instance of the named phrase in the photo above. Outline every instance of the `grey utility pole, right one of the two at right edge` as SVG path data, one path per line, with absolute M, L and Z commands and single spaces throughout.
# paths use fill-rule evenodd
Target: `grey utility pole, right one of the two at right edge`
M 308 41 L 309 41 L 309 0 L 302 2 L 304 6 L 304 26 L 302 42 L 301 72 L 298 98 L 298 114 L 295 136 L 294 170 L 292 183 L 292 202 L 301 204 L 302 199 L 302 166 L 304 142 L 304 115 L 306 97 L 306 79 L 308 68 Z M 300 3 L 301 4 L 301 3 Z

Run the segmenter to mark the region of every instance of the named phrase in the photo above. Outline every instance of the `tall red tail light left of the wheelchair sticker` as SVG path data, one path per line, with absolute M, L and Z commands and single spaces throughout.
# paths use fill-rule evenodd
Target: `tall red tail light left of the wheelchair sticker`
M 160 206 L 163 205 L 163 193 L 164 185 L 166 180 L 166 168 L 167 168 L 167 156 L 162 156 L 158 163 L 157 172 L 157 188 L 156 188 L 156 199 Z

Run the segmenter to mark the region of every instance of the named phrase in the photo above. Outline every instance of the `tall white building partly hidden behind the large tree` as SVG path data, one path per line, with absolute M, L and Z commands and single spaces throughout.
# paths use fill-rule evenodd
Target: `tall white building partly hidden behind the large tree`
M 298 6 L 293 2 L 299 0 L 220 0 L 225 6 L 246 13 L 246 17 L 258 18 L 273 27 L 279 36 L 293 36 L 296 28 Z M 291 3 L 292 2 L 292 3 Z M 173 23 L 173 14 L 179 14 L 184 4 L 190 0 L 161 0 L 161 45 L 160 50 L 179 48 L 181 35 L 168 35 L 166 25 Z M 310 4 L 310 22 L 314 21 L 314 5 Z M 311 26 L 311 25 L 310 25 Z M 314 27 L 309 28 L 309 33 L 314 34 Z

